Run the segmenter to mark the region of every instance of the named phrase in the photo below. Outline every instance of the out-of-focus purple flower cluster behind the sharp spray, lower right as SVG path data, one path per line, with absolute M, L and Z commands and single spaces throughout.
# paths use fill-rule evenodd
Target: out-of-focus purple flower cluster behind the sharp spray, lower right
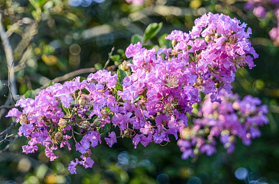
M 197 112 L 199 119 L 193 120 L 193 125 L 181 128 L 177 144 L 183 151 L 182 158 L 194 158 L 200 153 L 211 156 L 216 152 L 217 140 L 224 145 L 227 153 L 234 151 L 236 137 L 243 144 L 250 145 L 251 139 L 261 135 L 259 126 L 268 123 L 265 116 L 267 107 L 261 101 L 250 95 L 239 99 L 236 94 L 219 94 L 222 103 L 204 101 Z

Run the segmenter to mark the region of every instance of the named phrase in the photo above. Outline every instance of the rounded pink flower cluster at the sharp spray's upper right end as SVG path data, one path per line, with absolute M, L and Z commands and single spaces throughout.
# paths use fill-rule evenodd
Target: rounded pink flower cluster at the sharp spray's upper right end
M 175 44 L 172 56 L 197 77 L 194 87 L 212 93 L 213 101 L 218 101 L 216 94 L 221 89 L 230 92 L 237 69 L 255 67 L 252 60 L 258 55 L 248 40 L 252 31 L 246 31 L 246 25 L 236 18 L 209 12 L 195 20 L 189 34 L 173 31 L 167 36 Z

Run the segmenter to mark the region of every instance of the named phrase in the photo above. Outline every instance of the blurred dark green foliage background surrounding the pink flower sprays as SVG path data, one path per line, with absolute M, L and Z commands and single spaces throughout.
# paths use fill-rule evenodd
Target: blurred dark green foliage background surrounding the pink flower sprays
M 153 22 L 163 22 L 163 28 L 148 44 L 167 47 L 161 36 L 174 29 L 188 32 L 206 12 L 236 17 L 252 28 L 257 67 L 239 70 L 233 91 L 241 97 L 259 97 L 269 106 L 269 125 L 261 128 L 262 137 L 252 145 L 246 147 L 238 140 L 232 154 L 219 145 L 218 153 L 197 160 L 181 160 L 175 140 L 165 147 L 150 144 L 134 149 L 127 138 L 119 139 L 113 149 L 105 144 L 92 149 L 93 168 L 77 166 L 77 174 L 71 175 L 67 168 L 70 160 L 79 157 L 76 151 L 55 151 L 59 158 L 50 162 L 42 147 L 36 153 L 22 153 L 27 139 L 20 137 L 0 155 L 0 183 L 279 183 L 279 47 L 269 37 L 278 24 L 278 2 L 254 1 L 257 7 L 262 3 L 264 15 L 248 7 L 249 2 L 149 0 L 139 5 L 125 0 L 0 0 L 0 32 L 6 31 L 13 56 L 13 63 L 8 62 L 9 51 L 1 37 L 0 106 L 14 104 L 7 87 L 11 64 L 14 99 L 34 97 L 54 78 L 63 83 L 75 74 L 86 77 L 93 67 L 102 69 L 112 47 L 109 66 L 119 65 L 131 37 L 143 35 Z M 70 72 L 75 72 L 70 78 L 57 78 Z M 13 123 L 6 113 L 7 108 L 0 108 L 0 131 Z M 10 133 L 16 135 L 19 126 Z M 1 142 L 0 150 L 8 143 Z

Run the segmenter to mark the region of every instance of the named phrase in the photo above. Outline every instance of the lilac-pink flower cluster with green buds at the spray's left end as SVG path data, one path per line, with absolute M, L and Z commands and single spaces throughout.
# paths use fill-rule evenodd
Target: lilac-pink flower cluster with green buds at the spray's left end
M 82 82 L 77 77 L 63 85 L 56 83 L 42 90 L 35 99 L 17 101 L 15 106 L 20 106 L 23 111 L 13 108 L 6 117 L 17 117 L 16 121 L 22 124 L 18 134 L 29 139 L 28 144 L 22 147 L 23 152 L 34 153 L 38 150 L 36 144 L 42 144 L 45 155 L 52 161 L 58 158 L 54 150 L 65 145 L 71 149 L 69 139 L 73 137 L 75 149 L 82 153 L 82 161 L 72 161 L 69 171 L 74 174 L 77 164 L 91 167 L 90 147 L 101 143 L 98 130 L 110 124 L 109 115 L 118 110 L 112 95 L 116 77 L 110 72 L 98 71 Z

